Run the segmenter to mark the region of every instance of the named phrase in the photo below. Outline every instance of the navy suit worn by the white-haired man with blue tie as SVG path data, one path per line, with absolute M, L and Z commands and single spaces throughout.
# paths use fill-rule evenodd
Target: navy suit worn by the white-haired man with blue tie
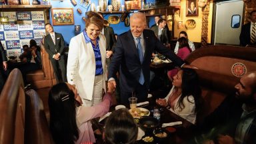
M 159 53 L 167 56 L 178 66 L 183 65 L 182 61 L 155 37 L 153 31 L 145 29 L 143 31 L 145 53 L 143 63 L 139 60 L 139 54 L 131 30 L 119 35 L 115 46 L 115 55 L 109 65 L 109 76 L 115 77 L 115 73 L 119 69 L 119 85 L 121 90 L 121 103 L 128 103 L 128 97 L 131 93 L 135 92 L 138 101 L 145 101 L 147 91 L 149 89 L 149 65 L 151 63 L 151 53 L 158 51 Z M 119 68 L 120 66 L 120 68 Z M 139 84 L 139 77 L 143 70 L 145 78 L 144 85 Z

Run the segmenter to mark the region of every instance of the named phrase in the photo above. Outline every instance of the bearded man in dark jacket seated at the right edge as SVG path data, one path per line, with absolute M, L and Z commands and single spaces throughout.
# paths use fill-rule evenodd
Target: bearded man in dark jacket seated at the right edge
M 227 97 L 201 126 L 210 131 L 207 143 L 256 143 L 256 71 L 241 77 L 235 97 Z M 200 143 L 200 142 L 199 142 Z

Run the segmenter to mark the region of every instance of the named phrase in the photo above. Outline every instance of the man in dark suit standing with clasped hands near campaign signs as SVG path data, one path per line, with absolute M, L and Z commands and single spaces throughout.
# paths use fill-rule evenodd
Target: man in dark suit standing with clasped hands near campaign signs
M 61 77 L 63 82 L 67 82 L 67 70 L 63 55 L 65 47 L 63 36 L 61 33 L 55 33 L 50 23 L 45 24 L 45 29 L 49 34 L 45 36 L 44 46 L 49 54 L 51 65 L 53 65 L 57 82 L 61 81 Z M 59 74 L 59 68 L 61 69 L 61 75 Z

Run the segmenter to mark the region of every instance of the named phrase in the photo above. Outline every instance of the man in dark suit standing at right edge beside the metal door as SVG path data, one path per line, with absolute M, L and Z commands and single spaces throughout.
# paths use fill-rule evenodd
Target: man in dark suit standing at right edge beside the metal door
M 251 22 L 242 26 L 240 33 L 240 45 L 247 47 L 256 45 L 256 11 L 251 11 Z

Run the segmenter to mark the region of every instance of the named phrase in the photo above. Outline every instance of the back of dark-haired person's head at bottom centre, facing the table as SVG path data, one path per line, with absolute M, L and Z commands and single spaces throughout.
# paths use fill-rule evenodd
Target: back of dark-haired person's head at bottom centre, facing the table
M 105 123 L 105 141 L 108 144 L 135 143 L 138 127 L 127 109 L 113 111 Z

